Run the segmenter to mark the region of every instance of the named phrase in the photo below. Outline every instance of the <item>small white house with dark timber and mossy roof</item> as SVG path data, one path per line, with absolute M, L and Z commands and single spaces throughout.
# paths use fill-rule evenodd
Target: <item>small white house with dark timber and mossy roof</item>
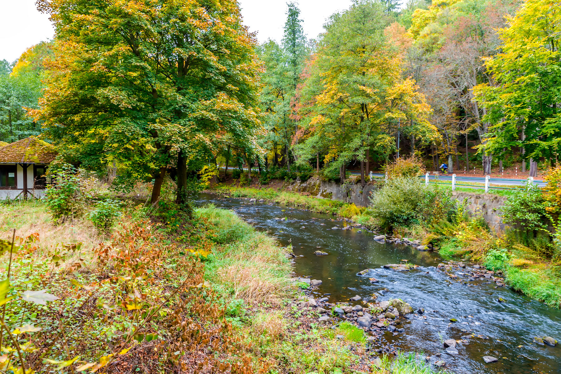
M 0 199 L 44 196 L 47 166 L 56 156 L 52 144 L 35 137 L 0 146 Z

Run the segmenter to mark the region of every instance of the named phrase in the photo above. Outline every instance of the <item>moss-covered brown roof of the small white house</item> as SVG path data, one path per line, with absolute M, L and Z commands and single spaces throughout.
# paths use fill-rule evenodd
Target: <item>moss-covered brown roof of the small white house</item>
M 29 137 L 0 146 L 0 163 L 49 163 L 57 156 L 52 144 Z

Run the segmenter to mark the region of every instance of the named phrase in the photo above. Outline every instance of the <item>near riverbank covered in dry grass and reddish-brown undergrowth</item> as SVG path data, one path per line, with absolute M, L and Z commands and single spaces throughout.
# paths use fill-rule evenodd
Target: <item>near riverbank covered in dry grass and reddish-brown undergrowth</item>
M 435 372 L 414 354 L 373 366 L 361 330 L 320 328 L 311 308 L 288 307 L 302 291 L 289 281 L 286 249 L 231 211 L 174 212 L 168 225 L 165 212 L 125 204 L 121 223 L 98 232 L 80 217 L 54 224 L 37 200 L 0 210 L 0 236 L 11 240 L 15 228 L 20 244 L 2 317 L 8 345 L 21 348 L 10 353 L 14 370 Z M 38 289 L 42 303 L 22 296 Z

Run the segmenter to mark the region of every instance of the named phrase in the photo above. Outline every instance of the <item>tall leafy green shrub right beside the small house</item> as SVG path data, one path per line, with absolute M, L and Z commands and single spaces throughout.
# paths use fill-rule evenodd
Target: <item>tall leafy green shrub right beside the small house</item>
M 80 191 L 80 176 L 76 168 L 61 160 L 49 166 L 53 184 L 48 186 L 47 207 L 54 221 L 61 222 L 79 214 L 83 207 L 84 196 Z

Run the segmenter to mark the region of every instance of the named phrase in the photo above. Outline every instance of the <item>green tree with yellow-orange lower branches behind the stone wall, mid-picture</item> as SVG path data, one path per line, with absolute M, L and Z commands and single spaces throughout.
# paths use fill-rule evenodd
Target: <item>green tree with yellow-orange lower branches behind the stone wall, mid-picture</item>
M 347 163 L 358 160 L 363 185 L 370 149 L 387 160 L 399 131 L 425 139 L 435 133 L 415 82 L 401 78 L 399 49 L 388 43 L 383 17 L 384 6 L 367 0 L 330 17 L 299 94 L 308 133 L 298 147 L 301 162 L 323 151 L 325 174 L 344 180 Z

